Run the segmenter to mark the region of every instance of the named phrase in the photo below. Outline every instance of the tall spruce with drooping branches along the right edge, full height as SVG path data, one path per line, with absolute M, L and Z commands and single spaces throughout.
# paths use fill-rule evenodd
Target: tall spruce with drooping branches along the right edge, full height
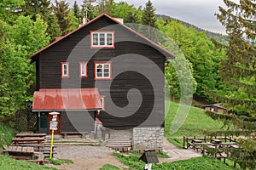
M 236 115 L 219 115 L 207 111 L 209 116 L 222 120 L 225 124 L 237 127 L 237 134 L 247 137 L 238 143 L 245 151 L 230 150 L 231 159 L 238 162 L 242 169 L 255 169 L 256 163 L 256 1 L 240 0 L 234 3 L 224 0 L 226 8 L 219 7 L 217 15 L 225 26 L 229 37 L 226 49 L 227 59 L 220 63 L 219 75 L 229 90 L 222 94 L 209 93 L 214 99 L 224 103 Z M 224 132 L 229 135 L 230 132 Z

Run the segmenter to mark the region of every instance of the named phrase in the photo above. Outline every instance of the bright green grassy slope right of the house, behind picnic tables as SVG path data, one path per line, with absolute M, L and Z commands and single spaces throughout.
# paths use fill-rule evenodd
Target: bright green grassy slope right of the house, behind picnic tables
M 183 147 L 183 136 L 204 136 L 204 132 L 215 132 L 222 129 L 224 126 L 223 122 L 214 121 L 211 117 L 205 114 L 204 110 L 199 108 L 190 107 L 189 113 L 186 116 L 186 112 L 184 109 L 189 109 L 189 106 L 183 106 L 183 112 L 177 114 L 177 110 L 179 104 L 166 100 L 166 110 L 170 105 L 169 111 L 166 111 L 166 122 L 165 122 L 165 136 L 172 144 L 177 145 L 177 147 Z M 176 122 L 182 124 L 181 127 L 178 128 L 178 125 L 173 123 L 175 116 L 177 116 Z M 173 127 L 172 127 L 173 126 Z M 177 129 L 175 132 L 174 129 Z M 234 129 L 234 127 L 230 127 L 230 130 Z

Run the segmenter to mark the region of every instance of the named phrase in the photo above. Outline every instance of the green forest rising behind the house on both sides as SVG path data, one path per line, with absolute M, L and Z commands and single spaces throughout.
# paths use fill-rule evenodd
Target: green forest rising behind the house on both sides
M 226 41 L 226 37 L 218 34 L 209 37 L 208 31 L 198 30 L 195 26 L 188 27 L 186 22 L 164 15 L 157 17 L 154 11 L 154 4 L 150 1 L 144 8 L 111 0 L 104 5 L 105 13 L 123 18 L 125 24 L 151 26 L 171 38 L 181 50 L 184 58 L 177 56 L 166 67 L 166 89 L 171 98 L 181 97 L 180 80 L 188 79 L 193 84 L 192 93 L 195 99 L 212 102 L 213 98 L 204 89 L 218 94 L 227 89 L 218 74 L 220 61 L 227 58 L 226 47 L 221 44 Z M 49 42 L 55 41 L 55 37 L 77 28 L 82 23 L 84 14 L 91 20 L 101 13 L 101 4 L 93 6 L 86 1 L 81 6 L 77 2 L 69 4 L 66 0 L 55 0 L 54 3 L 49 0 L 0 1 L 0 119 L 13 116 L 16 111 L 26 108 L 27 102 L 32 100 L 35 68 L 30 64 L 29 56 Z M 129 24 L 127 26 L 133 29 L 137 27 Z M 174 46 L 164 42 L 165 39 L 154 39 L 154 34 L 143 32 L 140 28 L 137 31 L 146 37 L 150 35 L 148 38 L 175 53 Z M 213 41 L 212 37 L 217 41 Z M 182 67 L 183 62 L 189 65 L 189 69 L 177 71 L 177 67 Z M 187 70 L 190 70 L 192 77 Z M 190 88 L 189 85 L 186 88 Z M 191 99 L 189 95 L 186 97 Z

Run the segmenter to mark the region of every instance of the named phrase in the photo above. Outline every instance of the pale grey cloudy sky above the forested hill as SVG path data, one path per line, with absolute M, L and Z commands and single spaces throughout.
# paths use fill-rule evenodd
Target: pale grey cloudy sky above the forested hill
M 79 4 L 83 0 L 76 0 Z M 114 0 L 114 2 L 125 1 L 134 4 L 135 7 L 142 6 L 148 0 Z M 67 0 L 73 6 L 74 0 Z M 224 7 L 223 0 L 151 0 L 156 8 L 156 14 L 166 14 L 172 18 L 189 22 L 195 26 L 208 31 L 224 34 L 224 26 L 221 26 L 214 14 L 218 13 L 218 6 Z

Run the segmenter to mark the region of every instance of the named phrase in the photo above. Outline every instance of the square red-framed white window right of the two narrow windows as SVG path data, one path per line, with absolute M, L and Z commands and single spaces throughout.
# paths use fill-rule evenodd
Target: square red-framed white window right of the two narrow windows
M 95 62 L 95 79 L 110 80 L 111 79 L 111 63 Z

